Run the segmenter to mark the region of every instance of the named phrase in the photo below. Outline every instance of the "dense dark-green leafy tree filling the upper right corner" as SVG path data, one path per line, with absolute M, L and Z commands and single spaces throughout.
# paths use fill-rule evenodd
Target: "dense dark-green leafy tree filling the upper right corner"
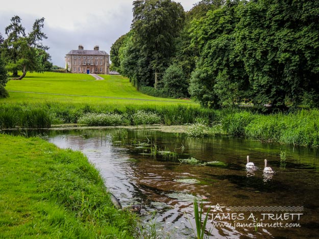
M 255 104 L 285 109 L 319 96 L 319 2 L 248 2 L 238 9 L 237 51 Z

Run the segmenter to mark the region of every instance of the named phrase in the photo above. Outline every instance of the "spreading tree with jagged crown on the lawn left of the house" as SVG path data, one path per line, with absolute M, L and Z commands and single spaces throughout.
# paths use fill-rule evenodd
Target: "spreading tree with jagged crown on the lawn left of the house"
M 17 71 L 22 70 L 22 75 L 15 79 L 22 79 L 27 71 L 41 71 L 39 65 L 38 49 L 47 50 L 41 41 L 46 39 L 42 32 L 44 18 L 36 19 L 32 31 L 27 35 L 21 24 L 19 16 L 11 18 L 11 24 L 6 28 L 7 39 L 4 41 L 2 55 L 7 62 L 7 68 L 18 76 Z

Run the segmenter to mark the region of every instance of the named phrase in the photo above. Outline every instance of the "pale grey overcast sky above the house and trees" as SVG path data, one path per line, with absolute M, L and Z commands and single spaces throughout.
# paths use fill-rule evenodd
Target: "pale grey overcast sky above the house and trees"
M 199 0 L 176 0 L 188 11 Z M 43 1 L 7 0 L 0 9 L 0 32 L 4 38 L 5 28 L 14 15 L 22 19 L 22 26 L 29 33 L 37 18 L 44 17 L 43 32 L 48 39 L 43 41 L 50 47 L 54 65 L 64 67 L 64 57 L 81 44 L 84 49 L 100 50 L 110 53 L 112 44 L 130 30 L 133 14 L 133 1 L 92 0 L 92 1 Z

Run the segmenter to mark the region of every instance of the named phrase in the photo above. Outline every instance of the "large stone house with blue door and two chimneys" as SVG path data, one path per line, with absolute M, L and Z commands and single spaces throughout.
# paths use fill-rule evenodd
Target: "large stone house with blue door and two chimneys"
M 83 45 L 79 45 L 78 50 L 66 54 L 65 68 L 71 73 L 109 74 L 110 56 L 99 46 L 94 46 L 94 50 L 84 50 Z

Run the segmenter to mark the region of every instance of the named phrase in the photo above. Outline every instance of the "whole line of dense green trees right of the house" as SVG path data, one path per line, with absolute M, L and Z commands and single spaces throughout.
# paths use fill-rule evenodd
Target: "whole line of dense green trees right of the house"
M 319 1 L 171 0 L 133 3 L 112 68 L 139 89 L 208 108 L 253 103 L 319 107 Z

